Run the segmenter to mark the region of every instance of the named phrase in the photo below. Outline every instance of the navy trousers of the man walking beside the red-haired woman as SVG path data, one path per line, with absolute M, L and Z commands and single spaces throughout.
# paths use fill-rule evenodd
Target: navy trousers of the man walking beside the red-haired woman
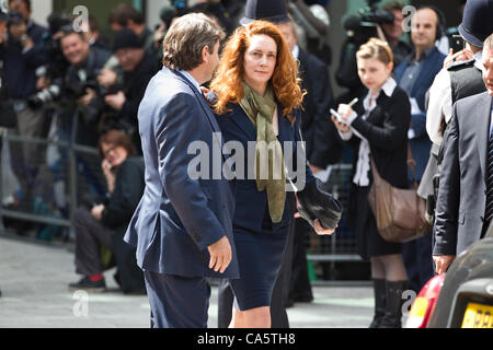
M 144 271 L 151 328 L 207 328 L 210 285 L 203 277 Z

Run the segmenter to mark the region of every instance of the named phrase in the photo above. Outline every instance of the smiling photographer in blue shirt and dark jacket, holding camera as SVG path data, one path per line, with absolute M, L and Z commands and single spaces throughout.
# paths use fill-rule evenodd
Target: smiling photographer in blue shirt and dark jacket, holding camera
M 70 66 L 65 75 L 64 102 L 78 115 L 77 143 L 95 147 L 104 106 L 96 78 L 112 56 L 110 51 L 90 47 L 82 32 L 65 31 L 60 37 L 61 51 Z

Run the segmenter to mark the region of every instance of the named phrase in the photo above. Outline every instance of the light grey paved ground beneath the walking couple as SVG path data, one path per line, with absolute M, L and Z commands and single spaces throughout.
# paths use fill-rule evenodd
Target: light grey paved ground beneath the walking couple
M 108 292 L 72 293 L 73 253 L 0 235 L 0 327 L 148 328 L 147 296 L 118 291 L 114 269 L 105 273 Z M 295 328 L 365 328 L 372 315 L 370 287 L 313 287 L 312 303 L 288 308 Z M 213 287 L 209 327 L 217 327 L 217 288 Z

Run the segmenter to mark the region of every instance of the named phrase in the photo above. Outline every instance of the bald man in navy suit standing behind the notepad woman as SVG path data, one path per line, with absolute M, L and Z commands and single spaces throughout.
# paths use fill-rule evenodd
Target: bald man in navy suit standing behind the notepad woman
M 443 14 L 433 7 L 420 8 L 412 18 L 411 40 L 414 52 L 394 69 L 395 81 L 411 102 L 409 143 L 415 161 L 414 175 L 421 182 L 429 158 L 432 141 L 426 133 L 425 95 L 440 71 L 445 55 L 435 46 L 442 37 Z M 411 173 L 409 174 L 412 179 Z M 409 288 L 416 293 L 433 277 L 432 235 L 404 243 L 402 256 L 408 272 Z

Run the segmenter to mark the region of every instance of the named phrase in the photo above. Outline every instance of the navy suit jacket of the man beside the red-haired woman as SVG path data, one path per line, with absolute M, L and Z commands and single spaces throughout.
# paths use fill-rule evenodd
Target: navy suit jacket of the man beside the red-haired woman
M 208 150 L 221 147 L 214 138 L 219 126 L 202 92 L 180 72 L 163 68 L 149 82 L 138 119 L 146 189 L 125 235 L 137 247 L 138 266 L 158 273 L 238 278 L 231 185 L 225 178 L 195 178 L 188 170 L 196 159 L 190 151 L 193 142 Z M 202 166 L 213 170 L 213 156 L 205 155 L 210 163 Z M 218 273 L 208 268 L 207 247 L 225 235 L 233 258 Z

